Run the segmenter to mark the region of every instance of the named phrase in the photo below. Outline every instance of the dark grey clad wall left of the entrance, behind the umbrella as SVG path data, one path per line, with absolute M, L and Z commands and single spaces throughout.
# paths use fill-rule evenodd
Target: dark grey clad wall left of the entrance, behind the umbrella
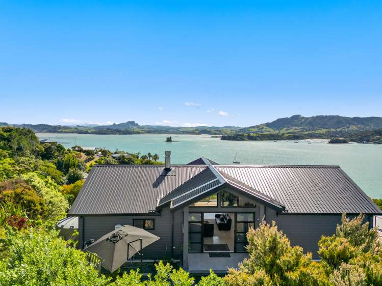
M 172 215 L 168 208 L 163 209 L 160 216 L 85 216 L 84 240 L 97 240 L 101 236 L 113 231 L 116 224 L 133 225 L 133 219 L 155 219 L 155 230 L 148 232 L 160 237 L 160 240 L 150 244 L 143 250 L 144 259 L 169 259 L 171 258 L 171 253 L 173 253 L 173 259 L 177 260 L 181 258 L 181 245 L 183 239 L 182 211 L 176 211 L 174 213 L 174 248 L 171 249 Z

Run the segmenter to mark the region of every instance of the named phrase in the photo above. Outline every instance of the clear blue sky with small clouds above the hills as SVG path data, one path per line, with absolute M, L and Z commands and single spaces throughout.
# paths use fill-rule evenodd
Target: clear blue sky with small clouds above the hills
M 0 122 L 382 116 L 381 1 L 2 1 Z

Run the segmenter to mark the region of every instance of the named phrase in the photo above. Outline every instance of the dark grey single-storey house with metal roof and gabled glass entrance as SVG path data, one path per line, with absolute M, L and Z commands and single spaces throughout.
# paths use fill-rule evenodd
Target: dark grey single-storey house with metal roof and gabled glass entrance
M 318 259 L 317 242 L 332 235 L 342 213 L 381 211 L 339 166 L 95 165 L 69 210 L 79 217 L 80 247 L 120 224 L 161 239 L 145 260 L 173 259 L 192 273 L 224 272 L 248 254 L 246 232 L 275 221 L 293 245 Z M 184 247 L 186 245 L 187 247 Z

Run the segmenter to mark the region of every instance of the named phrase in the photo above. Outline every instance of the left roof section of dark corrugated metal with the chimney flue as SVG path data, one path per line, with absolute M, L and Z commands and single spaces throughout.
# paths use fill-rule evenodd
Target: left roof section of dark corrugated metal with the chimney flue
M 161 176 L 163 165 L 95 165 L 68 215 L 143 214 L 159 198 L 207 166 L 172 166 L 176 176 Z

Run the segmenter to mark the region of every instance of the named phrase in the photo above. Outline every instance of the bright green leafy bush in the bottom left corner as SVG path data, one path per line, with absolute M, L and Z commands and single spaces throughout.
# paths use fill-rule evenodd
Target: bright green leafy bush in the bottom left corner
M 1 248 L 2 285 L 106 285 L 85 253 L 70 247 L 56 231 L 10 231 Z

